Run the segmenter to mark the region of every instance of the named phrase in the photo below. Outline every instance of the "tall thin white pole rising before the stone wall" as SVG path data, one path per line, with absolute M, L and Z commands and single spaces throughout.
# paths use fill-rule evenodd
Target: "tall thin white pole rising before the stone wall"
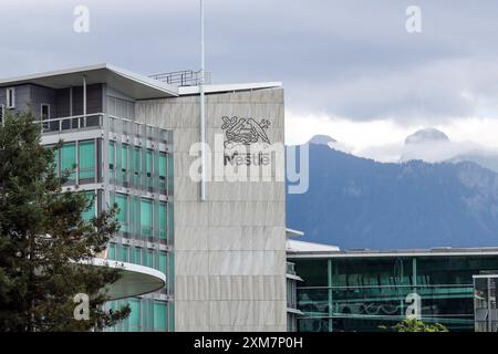
M 206 201 L 206 97 L 204 94 L 205 67 L 204 67 L 204 1 L 200 0 L 200 201 Z

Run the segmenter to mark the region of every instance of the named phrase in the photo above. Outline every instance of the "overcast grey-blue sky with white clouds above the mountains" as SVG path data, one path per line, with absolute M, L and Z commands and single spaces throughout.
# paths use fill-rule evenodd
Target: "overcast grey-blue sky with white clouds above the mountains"
M 198 3 L 2 0 L 0 76 L 102 62 L 198 70 Z M 369 156 L 435 126 L 498 148 L 498 1 L 205 3 L 212 81 L 283 82 L 288 143 L 325 133 Z M 73 31 L 77 4 L 90 9 L 89 33 Z M 408 6 L 422 10 L 422 33 L 405 29 Z

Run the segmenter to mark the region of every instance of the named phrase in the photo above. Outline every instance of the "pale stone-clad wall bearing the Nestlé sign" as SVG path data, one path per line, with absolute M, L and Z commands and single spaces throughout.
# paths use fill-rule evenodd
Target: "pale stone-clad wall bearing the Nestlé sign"
M 142 101 L 137 119 L 174 131 L 176 331 L 286 331 L 283 181 L 212 181 L 207 201 L 188 171 L 198 96 Z M 222 116 L 264 118 L 283 143 L 283 90 L 207 95 L 208 143 Z

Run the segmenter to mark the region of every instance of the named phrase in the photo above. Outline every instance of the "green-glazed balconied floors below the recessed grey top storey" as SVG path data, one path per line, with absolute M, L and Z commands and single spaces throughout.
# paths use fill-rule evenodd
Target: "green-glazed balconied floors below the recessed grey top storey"
M 157 293 L 110 303 L 113 309 L 124 304 L 132 309 L 127 320 L 110 330 L 172 331 L 172 134 L 126 118 L 95 117 L 91 125 L 81 122 L 75 127 L 64 126 L 65 122 L 74 119 L 69 117 L 51 119 L 44 126 L 45 137 L 55 134 L 63 140 L 60 146 L 48 145 L 54 152 L 58 173 L 60 176 L 69 174 L 66 187 L 77 186 L 77 190 L 93 200 L 85 218 L 117 206 L 120 231 L 108 244 L 108 260 L 154 268 L 167 275 L 167 287 Z M 71 139 L 74 131 L 85 135 L 103 131 L 108 139 L 74 140 Z

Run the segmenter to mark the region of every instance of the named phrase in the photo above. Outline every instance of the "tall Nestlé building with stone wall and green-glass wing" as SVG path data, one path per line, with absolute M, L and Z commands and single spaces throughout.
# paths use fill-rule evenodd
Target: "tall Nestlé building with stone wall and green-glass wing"
M 249 134 L 251 142 L 283 145 L 280 83 L 206 85 L 205 92 L 207 143 L 221 137 L 218 155 L 228 116 L 242 122 L 230 138 Z M 132 308 L 110 331 L 286 330 L 284 181 L 217 179 L 200 200 L 190 176 L 200 136 L 195 75 L 152 79 L 100 64 L 6 79 L 0 117 L 8 110 L 33 113 L 58 173 L 71 170 L 64 188 L 93 200 L 85 217 L 117 205 L 121 230 L 107 260 L 166 275 L 159 291 L 108 303 Z

